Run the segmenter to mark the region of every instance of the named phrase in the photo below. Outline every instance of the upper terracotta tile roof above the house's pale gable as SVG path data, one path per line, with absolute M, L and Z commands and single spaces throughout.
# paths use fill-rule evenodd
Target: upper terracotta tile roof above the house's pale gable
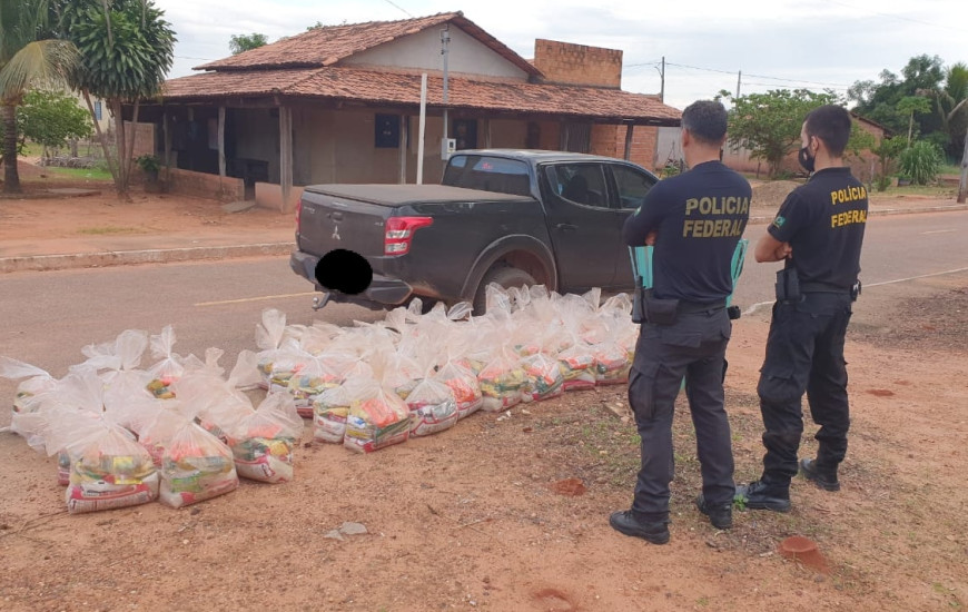
M 460 11 L 401 21 L 369 21 L 316 28 L 237 56 L 205 63 L 197 67 L 196 70 L 228 71 L 333 66 L 354 53 L 447 22 L 456 24 L 525 72 L 541 75 L 524 58 L 482 30 Z

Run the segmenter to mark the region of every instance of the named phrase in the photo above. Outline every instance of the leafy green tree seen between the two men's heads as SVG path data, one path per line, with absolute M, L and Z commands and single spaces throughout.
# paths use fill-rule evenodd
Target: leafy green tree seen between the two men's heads
M 837 96 L 831 92 L 807 89 L 774 89 L 732 98 L 729 142 L 749 150 L 753 159 L 764 160 L 770 177 L 776 177 L 783 159 L 800 148 L 800 130 L 807 113 L 836 102 Z

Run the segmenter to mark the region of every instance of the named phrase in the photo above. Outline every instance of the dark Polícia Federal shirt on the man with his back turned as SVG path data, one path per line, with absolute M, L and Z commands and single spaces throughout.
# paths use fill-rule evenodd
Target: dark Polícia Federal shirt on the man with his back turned
M 629 246 L 656 230 L 652 253 L 655 297 L 725 299 L 733 292 L 731 261 L 750 218 L 750 184 L 720 161 L 660 180 L 625 221 Z

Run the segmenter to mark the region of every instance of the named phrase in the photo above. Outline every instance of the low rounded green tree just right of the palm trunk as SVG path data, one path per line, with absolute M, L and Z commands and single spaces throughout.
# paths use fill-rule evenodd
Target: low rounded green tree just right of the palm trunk
M 21 138 L 45 148 L 63 147 L 68 140 L 93 134 L 88 111 L 78 106 L 77 98 L 63 91 L 28 91 L 18 109 L 18 119 Z

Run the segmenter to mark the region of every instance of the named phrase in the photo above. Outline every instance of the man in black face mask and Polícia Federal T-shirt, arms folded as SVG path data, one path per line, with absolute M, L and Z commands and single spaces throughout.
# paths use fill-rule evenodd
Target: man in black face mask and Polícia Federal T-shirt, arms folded
M 803 433 L 800 399 L 807 392 L 817 432 L 817 458 L 799 471 L 838 491 L 837 468 L 847 452 L 850 413 L 843 338 L 851 303 L 860 293 L 860 247 L 867 190 L 843 166 L 850 115 L 828 105 L 811 111 L 800 134 L 800 162 L 810 180 L 788 197 L 755 249 L 758 261 L 786 261 L 760 369 L 763 474 L 740 487 L 747 507 L 787 512 Z

